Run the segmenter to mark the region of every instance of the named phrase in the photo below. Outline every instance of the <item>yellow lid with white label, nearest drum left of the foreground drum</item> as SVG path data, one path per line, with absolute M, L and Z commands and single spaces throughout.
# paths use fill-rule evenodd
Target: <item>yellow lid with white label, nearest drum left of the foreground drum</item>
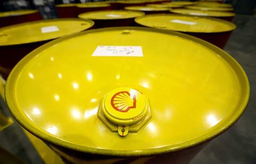
M 0 28 L 0 46 L 52 40 L 84 31 L 94 25 L 88 19 L 49 19 Z M 26 38 L 26 39 L 24 39 Z

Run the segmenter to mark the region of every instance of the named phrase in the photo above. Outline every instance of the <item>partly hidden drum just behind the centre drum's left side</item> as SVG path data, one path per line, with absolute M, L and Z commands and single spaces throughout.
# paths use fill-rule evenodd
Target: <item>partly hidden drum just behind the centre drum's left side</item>
M 78 4 L 77 5 L 78 14 L 90 11 L 101 11 L 101 10 L 111 10 L 110 4 Z

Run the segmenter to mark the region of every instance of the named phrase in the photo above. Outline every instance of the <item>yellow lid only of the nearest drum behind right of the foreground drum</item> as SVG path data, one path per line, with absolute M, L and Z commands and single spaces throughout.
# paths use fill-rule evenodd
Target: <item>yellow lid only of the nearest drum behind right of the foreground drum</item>
M 135 22 L 142 26 L 191 33 L 218 33 L 236 28 L 235 24 L 222 19 L 178 14 L 148 14 L 135 18 Z

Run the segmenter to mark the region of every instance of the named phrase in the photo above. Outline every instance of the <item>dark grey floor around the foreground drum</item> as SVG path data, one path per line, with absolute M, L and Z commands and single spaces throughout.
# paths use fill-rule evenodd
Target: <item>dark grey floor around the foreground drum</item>
M 224 50 L 244 68 L 251 85 L 250 101 L 237 123 L 213 139 L 190 164 L 256 163 L 256 17 L 236 15 L 233 22 L 237 29 Z M 0 109 L 11 116 L 2 99 Z M 0 131 L 0 145 L 29 164 L 44 163 L 17 122 Z

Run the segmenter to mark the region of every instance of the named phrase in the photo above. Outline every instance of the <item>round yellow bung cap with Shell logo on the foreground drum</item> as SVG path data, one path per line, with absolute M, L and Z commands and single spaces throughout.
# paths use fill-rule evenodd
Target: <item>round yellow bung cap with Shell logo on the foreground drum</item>
M 112 90 L 103 100 L 103 113 L 113 123 L 129 125 L 147 113 L 147 101 L 138 90 L 121 87 Z

